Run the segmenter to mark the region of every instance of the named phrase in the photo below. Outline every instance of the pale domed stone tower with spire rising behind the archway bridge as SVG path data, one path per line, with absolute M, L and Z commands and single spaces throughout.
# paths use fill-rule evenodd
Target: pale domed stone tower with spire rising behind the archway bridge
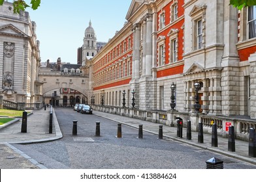
M 91 27 L 91 20 L 89 27 L 84 32 L 84 45 L 82 48 L 82 59 L 88 60 L 94 57 L 97 53 L 97 38 L 93 27 Z

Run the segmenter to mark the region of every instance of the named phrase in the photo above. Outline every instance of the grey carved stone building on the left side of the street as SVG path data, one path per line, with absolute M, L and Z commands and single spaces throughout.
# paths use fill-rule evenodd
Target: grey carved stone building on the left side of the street
M 28 12 L 13 14 L 12 3 L 0 6 L 0 95 L 13 102 L 42 102 L 36 23 Z

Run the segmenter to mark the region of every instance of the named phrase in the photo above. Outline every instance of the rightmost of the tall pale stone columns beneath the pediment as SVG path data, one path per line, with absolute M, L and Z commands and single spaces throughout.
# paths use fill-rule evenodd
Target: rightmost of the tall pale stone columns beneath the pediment
M 146 15 L 146 75 L 152 75 L 152 14 Z

